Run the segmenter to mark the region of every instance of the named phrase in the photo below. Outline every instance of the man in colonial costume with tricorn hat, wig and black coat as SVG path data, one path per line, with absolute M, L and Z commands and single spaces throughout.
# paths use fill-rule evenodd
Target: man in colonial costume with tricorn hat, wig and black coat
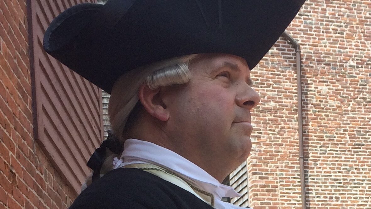
M 251 150 L 250 70 L 303 2 L 110 0 L 58 16 L 46 52 L 111 93 L 124 142 L 96 150 L 71 208 L 240 208 L 220 182 Z

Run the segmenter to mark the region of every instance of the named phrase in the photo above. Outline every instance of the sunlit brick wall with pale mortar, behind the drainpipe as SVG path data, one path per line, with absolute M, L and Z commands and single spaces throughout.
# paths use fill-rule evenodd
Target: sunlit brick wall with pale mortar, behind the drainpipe
M 287 32 L 302 49 L 307 208 L 371 209 L 371 1 L 307 0 Z M 281 38 L 252 77 L 250 206 L 299 209 L 295 50 Z

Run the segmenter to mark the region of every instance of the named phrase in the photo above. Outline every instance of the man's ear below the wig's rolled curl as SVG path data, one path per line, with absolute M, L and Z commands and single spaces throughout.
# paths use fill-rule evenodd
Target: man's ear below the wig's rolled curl
M 167 121 L 170 113 L 162 102 L 161 88 L 150 89 L 145 83 L 139 87 L 139 100 L 145 110 L 153 117 L 161 121 Z

